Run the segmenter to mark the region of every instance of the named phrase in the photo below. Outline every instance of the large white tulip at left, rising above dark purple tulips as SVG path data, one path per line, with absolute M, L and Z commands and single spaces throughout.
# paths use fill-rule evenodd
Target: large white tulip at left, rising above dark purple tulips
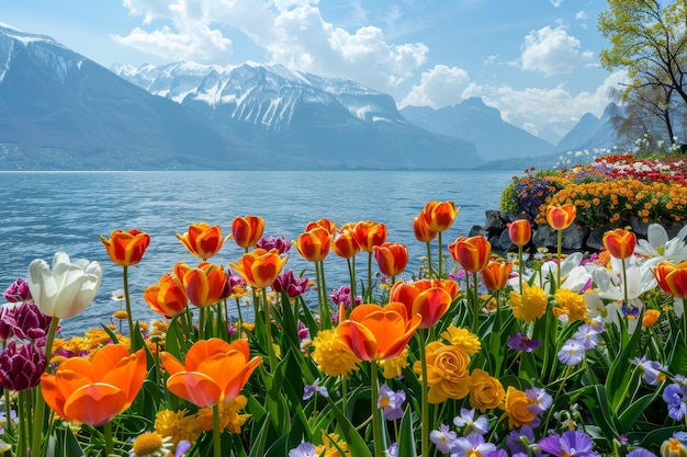
M 100 263 L 86 259 L 69 261 L 65 252 L 53 258 L 53 270 L 36 259 L 29 265 L 29 289 L 34 302 L 46 316 L 67 319 L 79 315 L 95 298 L 102 270 Z

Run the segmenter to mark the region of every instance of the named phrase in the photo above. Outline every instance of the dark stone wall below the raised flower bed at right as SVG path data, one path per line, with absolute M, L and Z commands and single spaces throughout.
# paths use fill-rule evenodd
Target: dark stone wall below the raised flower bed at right
M 517 252 L 518 247 L 510 242 L 508 235 L 508 222 L 520 219 L 521 217 L 513 214 L 506 214 L 498 210 L 487 210 L 484 226 L 474 226 L 470 230 L 470 236 L 483 235 L 492 243 L 495 252 Z M 668 238 L 673 238 L 685 226 L 684 222 L 657 221 L 667 231 Z M 629 227 L 629 228 L 628 228 Z M 616 228 L 631 229 L 638 239 L 646 238 L 649 224 L 642 222 L 637 218 L 627 221 L 619 221 L 613 225 L 604 227 L 587 227 L 581 224 L 573 224 L 563 230 L 562 249 L 565 252 L 582 251 L 597 252 L 604 247 L 604 233 Z M 532 225 L 532 239 L 525 247 L 525 252 L 534 252 L 538 248 L 548 248 L 550 251 L 558 249 L 559 235 L 548 225 Z

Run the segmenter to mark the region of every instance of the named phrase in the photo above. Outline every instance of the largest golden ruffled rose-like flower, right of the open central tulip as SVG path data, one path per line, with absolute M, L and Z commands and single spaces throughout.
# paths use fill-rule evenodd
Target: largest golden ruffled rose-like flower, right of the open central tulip
M 470 355 L 460 346 L 433 341 L 425 349 L 427 353 L 427 379 L 429 387 L 427 399 L 430 403 L 441 403 L 452 398 L 460 400 L 470 392 Z M 413 370 L 421 376 L 420 362 L 413 365 Z

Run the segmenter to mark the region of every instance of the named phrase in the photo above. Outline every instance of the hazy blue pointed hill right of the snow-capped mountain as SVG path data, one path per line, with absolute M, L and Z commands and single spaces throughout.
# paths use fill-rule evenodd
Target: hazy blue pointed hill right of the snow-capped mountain
M 498 110 L 477 98 L 439 110 L 405 106 L 401 114 L 430 132 L 474 142 L 477 153 L 487 161 L 543 156 L 553 151 L 552 144 L 508 124 L 502 119 Z

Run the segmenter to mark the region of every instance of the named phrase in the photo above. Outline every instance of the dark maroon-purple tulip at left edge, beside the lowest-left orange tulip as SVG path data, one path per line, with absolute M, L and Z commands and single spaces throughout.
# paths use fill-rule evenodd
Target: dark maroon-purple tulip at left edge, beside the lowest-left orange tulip
M 31 389 L 41 381 L 46 365 L 45 353 L 35 343 L 16 347 L 10 341 L 0 352 L 0 386 L 12 391 Z

